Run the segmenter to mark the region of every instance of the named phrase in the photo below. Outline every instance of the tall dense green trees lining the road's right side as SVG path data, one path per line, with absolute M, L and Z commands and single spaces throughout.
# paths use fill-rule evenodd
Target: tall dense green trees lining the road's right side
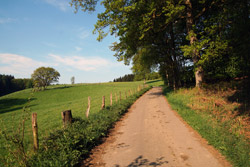
M 94 11 L 97 0 L 72 0 Z M 172 87 L 230 79 L 250 72 L 249 0 L 103 0 L 94 32 L 134 72 L 158 69 Z

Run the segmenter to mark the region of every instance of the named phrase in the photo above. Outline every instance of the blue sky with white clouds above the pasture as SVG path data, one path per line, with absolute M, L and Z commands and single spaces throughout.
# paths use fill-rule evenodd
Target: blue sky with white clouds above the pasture
M 0 74 L 30 78 L 38 67 L 52 67 L 60 84 L 113 81 L 130 74 L 109 46 L 118 39 L 96 40 L 97 14 L 74 13 L 70 0 L 0 0 Z

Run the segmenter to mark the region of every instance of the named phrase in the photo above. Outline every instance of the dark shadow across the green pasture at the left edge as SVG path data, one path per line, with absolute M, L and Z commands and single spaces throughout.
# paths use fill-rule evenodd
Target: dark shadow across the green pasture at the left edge
M 6 98 L 0 100 L 0 114 L 12 112 L 15 110 L 22 109 L 25 104 L 27 104 L 29 101 L 33 101 L 36 98 L 28 99 L 22 99 L 22 98 Z M 29 105 L 34 106 L 34 105 Z

